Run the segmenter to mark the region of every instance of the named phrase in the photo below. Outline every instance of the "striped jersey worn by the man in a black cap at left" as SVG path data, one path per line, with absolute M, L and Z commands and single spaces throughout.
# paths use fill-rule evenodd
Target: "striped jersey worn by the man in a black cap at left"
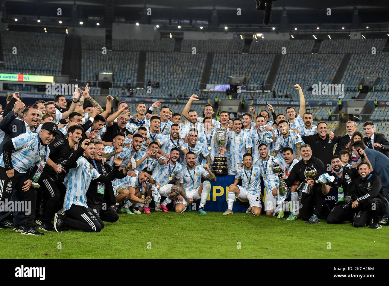
M 50 149 L 48 146 L 42 146 L 42 142 L 39 142 L 40 149 L 38 149 L 38 140 L 40 140 L 38 133 L 22 133 L 11 140 L 15 148 L 15 151 L 11 154 L 12 165 L 16 171 L 26 173 L 34 165 L 39 167 L 42 159 L 43 167 L 46 165 Z M 0 155 L 0 166 L 4 167 L 3 154 Z

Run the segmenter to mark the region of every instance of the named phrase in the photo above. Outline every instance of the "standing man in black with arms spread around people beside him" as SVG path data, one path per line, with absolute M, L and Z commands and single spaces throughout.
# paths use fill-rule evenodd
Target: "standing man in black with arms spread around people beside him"
M 331 157 L 334 154 L 334 146 L 338 143 L 339 137 L 334 136 L 329 139 L 327 123 L 321 121 L 317 123 L 317 133 L 310 136 L 301 136 L 304 143 L 309 144 L 312 148 L 312 156 L 321 160 L 324 167 L 331 171 Z M 297 158 L 298 159 L 298 158 Z

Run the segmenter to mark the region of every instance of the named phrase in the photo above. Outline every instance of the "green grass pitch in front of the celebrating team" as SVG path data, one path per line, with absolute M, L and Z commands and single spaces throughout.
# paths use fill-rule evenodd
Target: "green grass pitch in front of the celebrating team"
M 389 227 L 286 221 L 221 212 L 120 214 L 100 233 L 44 237 L 1 229 L 0 258 L 389 258 Z

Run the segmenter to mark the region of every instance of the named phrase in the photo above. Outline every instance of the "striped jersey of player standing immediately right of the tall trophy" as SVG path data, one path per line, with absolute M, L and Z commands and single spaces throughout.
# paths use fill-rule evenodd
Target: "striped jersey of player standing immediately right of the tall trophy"
M 246 149 L 252 147 L 252 140 L 250 133 L 244 130 L 241 130 L 239 134 L 230 131 L 228 136 L 231 156 L 231 163 L 228 165 L 228 168 L 233 172 L 237 172 L 238 163 L 243 163 L 243 155 L 246 153 Z

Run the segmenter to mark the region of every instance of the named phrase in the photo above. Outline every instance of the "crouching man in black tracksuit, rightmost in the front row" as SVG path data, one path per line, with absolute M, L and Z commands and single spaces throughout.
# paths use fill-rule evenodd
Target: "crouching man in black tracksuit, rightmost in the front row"
M 380 217 L 387 208 L 387 202 L 384 200 L 384 193 L 382 192 L 381 179 L 377 175 L 370 174 L 371 167 L 368 162 L 359 163 L 357 168 L 359 177 L 350 189 L 353 203 L 345 212 L 352 211 L 356 213 L 352 224 L 354 227 L 362 227 L 370 219 L 373 219 L 369 228 L 381 228 Z

